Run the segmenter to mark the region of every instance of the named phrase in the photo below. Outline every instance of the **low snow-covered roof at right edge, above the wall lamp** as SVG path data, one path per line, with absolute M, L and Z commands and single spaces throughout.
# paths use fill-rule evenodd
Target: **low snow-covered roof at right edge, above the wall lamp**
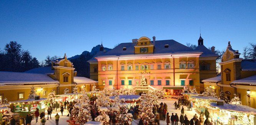
M 243 85 L 256 86 L 256 75 L 243 78 L 240 80 L 232 81 L 231 84 L 243 84 Z

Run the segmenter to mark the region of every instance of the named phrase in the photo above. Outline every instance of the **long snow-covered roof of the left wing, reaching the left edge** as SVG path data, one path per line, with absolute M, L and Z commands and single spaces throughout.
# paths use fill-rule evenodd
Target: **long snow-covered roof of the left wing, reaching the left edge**
M 0 85 L 58 84 L 46 74 L 0 71 Z

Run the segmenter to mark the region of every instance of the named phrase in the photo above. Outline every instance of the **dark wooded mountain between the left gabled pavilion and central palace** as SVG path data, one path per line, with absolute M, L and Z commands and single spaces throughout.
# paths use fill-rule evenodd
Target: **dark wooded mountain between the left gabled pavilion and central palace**
M 75 55 L 68 58 L 68 60 L 73 63 L 74 68 L 76 68 L 78 76 L 90 78 L 90 64 L 87 61 L 99 52 L 100 46 L 101 45 L 96 45 L 92 48 L 91 52 L 84 51 L 81 55 Z M 104 50 L 109 51 L 111 49 L 104 47 Z

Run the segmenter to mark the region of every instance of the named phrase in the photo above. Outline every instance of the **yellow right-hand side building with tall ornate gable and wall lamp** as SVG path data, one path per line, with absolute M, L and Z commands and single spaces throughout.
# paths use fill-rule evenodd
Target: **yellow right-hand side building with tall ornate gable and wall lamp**
M 256 108 L 256 59 L 240 58 L 230 42 L 221 59 L 221 75 L 203 80 L 205 87 L 215 89 L 217 95 L 223 91 L 228 99 L 236 94 L 243 105 Z

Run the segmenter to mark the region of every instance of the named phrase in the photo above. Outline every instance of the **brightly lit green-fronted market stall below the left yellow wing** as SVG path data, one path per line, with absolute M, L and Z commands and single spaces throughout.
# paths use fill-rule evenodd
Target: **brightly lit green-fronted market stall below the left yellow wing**
M 45 98 L 38 100 L 26 99 L 10 102 L 10 108 L 12 112 L 20 114 L 20 117 L 25 118 L 28 114 L 33 114 L 36 108 L 39 112 L 45 112 Z

